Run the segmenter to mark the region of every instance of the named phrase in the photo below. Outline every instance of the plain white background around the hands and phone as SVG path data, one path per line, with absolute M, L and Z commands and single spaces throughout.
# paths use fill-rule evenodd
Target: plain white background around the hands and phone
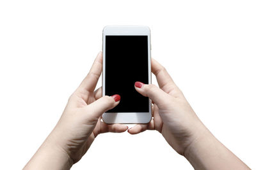
M 216 138 L 256 169 L 255 9 L 242 0 L 0 1 L 1 169 L 21 169 L 51 132 L 105 25 L 148 25 L 152 57 Z M 147 131 L 101 134 L 72 169 L 193 167 Z

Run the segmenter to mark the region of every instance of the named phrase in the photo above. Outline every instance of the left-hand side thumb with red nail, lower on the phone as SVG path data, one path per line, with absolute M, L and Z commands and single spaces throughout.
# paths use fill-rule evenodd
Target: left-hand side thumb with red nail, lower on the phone
M 92 113 L 93 117 L 99 118 L 104 112 L 115 108 L 120 101 L 120 96 L 115 94 L 113 96 L 103 96 L 86 106 Z

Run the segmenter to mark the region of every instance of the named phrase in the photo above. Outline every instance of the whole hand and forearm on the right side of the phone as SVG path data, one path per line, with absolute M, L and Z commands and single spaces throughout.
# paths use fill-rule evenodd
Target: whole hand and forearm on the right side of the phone
M 159 87 L 137 81 L 135 89 L 154 103 L 152 120 L 135 125 L 128 132 L 138 134 L 147 129 L 161 132 L 195 169 L 250 169 L 202 124 L 166 69 L 154 59 L 151 67 Z

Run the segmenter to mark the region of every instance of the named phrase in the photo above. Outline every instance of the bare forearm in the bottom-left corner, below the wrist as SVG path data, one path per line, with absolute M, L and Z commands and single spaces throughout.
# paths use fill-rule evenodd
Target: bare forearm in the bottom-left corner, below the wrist
M 54 142 L 51 134 L 29 160 L 24 170 L 29 169 L 70 169 L 72 160 L 68 154 Z

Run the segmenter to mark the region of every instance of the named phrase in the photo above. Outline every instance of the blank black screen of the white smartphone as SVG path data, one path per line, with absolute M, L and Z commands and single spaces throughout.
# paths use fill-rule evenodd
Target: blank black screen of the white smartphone
M 106 112 L 148 112 L 148 97 L 134 89 L 136 81 L 148 84 L 148 36 L 106 36 L 105 46 L 105 94 L 121 96 Z

